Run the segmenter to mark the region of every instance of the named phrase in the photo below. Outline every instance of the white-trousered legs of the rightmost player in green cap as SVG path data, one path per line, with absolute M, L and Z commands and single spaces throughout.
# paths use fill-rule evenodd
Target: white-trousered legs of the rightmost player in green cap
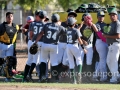
M 120 44 L 113 44 L 109 46 L 107 55 L 107 65 L 112 73 L 111 83 L 117 82 L 118 78 L 118 58 L 120 54 Z

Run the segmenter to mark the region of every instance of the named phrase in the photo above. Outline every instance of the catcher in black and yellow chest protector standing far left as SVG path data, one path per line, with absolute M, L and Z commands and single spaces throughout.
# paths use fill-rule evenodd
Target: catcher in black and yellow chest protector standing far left
M 4 67 L 5 81 L 12 81 L 13 66 L 16 66 L 16 58 L 14 58 L 14 43 L 17 38 L 17 32 L 19 27 L 13 23 L 13 13 L 6 13 L 6 22 L 0 24 L 0 42 L 2 50 L 2 58 L 6 60 L 6 66 Z

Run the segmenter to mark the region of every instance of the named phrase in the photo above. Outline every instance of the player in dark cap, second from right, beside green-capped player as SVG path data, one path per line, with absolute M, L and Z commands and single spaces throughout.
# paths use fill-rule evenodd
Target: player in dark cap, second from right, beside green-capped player
M 107 26 L 106 23 L 104 23 L 104 12 L 103 11 L 99 11 L 97 13 L 97 18 L 98 18 L 98 22 L 96 23 L 96 27 L 98 29 L 98 31 L 101 31 L 102 33 L 104 33 L 104 28 Z M 96 50 L 99 54 L 99 65 L 96 69 L 95 75 L 100 74 L 100 81 L 106 81 L 107 80 L 107 69 L 106 69 L 106 58 L 107 58 L 107 52 L 108 52 L 108 46 L 106 44 L 106 42 L 102 41 L 102 39 L 96 35 Z M 98 78 L 98 76 L 94 76 L 94 78 Z

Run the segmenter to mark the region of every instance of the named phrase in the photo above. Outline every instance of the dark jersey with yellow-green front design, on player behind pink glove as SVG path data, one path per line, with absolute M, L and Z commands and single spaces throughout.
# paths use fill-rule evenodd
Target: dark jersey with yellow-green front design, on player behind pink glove
M 82 34 L 82 39 L 87 41 L 88 43 L 93 42 L 93 37 L 94 37 L 94 30 L 92 27 L 89 27 L 85 24 L 83 24 L 82 28 L 80 29 L 80 32 Z

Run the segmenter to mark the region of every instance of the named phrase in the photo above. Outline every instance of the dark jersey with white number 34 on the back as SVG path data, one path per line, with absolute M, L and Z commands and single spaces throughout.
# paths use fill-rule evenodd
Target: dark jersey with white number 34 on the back
M 57 43 L 61 34 L 66 34 L 66 29 L 57 23 L 47 23 L 42 31 L 44 32 L 44 43 Z

